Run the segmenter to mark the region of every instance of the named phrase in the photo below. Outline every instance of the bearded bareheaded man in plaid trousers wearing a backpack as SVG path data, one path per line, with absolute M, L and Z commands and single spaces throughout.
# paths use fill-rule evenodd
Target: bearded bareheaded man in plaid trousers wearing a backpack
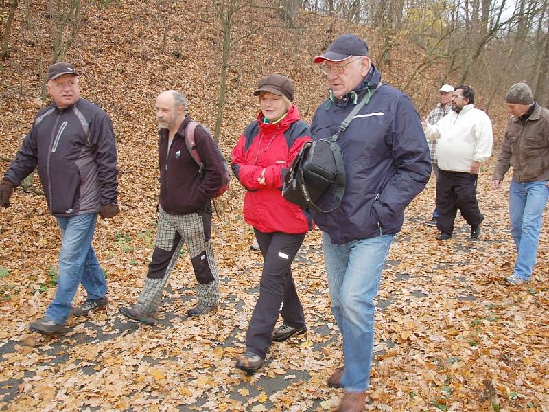
M 137 304 L 120 308 L 125 317 L 152 324 L 160 306 L 164 286 L 187 243 L 198 281 L 198 304 L 189 316 L 207 314 L 219 301 L 218 268 L 211 247 L 211 198 L 223 184 L 223 164 L 207 130 L 194 131 L 196 150 L 204 163 L 199 173 L 191 157 L 185 133 L 191 122 L 185 112 L 187 99 L 178 91 L 167 90 L 156 98 L 159 123 L 160 197 L 156 247 Z

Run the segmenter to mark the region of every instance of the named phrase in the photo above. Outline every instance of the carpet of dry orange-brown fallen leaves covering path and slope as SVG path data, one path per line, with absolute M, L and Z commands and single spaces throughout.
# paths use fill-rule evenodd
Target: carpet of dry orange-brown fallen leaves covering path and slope
M 0 155 L 12 158 L 38 108 L 40 76 L 49 56 L 47 1 L 23 2 L 14 21 L 13 52 L 0 70 Z M 220 4 L 221 2 L 218 2 Z M 189 112 L 215 123 L 219 23 L 211 2 L 169 2 L 170 36 L 161 54 L 163 24 L 154 2 L 121 0 L 84 12 L 67 60 L 82 74 L 82 94 L 113 119 L 120 168 L 121 214 L 100 220 L 94 247 L 106 271 L 111 304 L 88 319 L 69 319 L 64 336 L 27 331 L 54 296 L 60 237 L 43 196 L 17 190 L 0 210 L 0 409 L 7 411 L 334 411 L 342 391 L 326 378 L 342 362 L 341 341 L 329 308 L 318 230 L 307 235 L 294 263 L 305 308 L 305 336 L 277 343 L 266 367 L 247 377 L 234 367 L 257 299 L 261 258 L 250 251 L 253 232 L 242 219 L 242 189 L 233 183 L 219 201 L 213 234 L 222 304 L 215 314 L 187 319 L 195 280 L 187 253 L 170 279 L 160 321 L 145 326 L 118 314 L 135 301 L 152 255 L 156 180 L 156 126 L 152 105 L 163 89 L 180 89 Z M 235 38 L 273 11 L 238 14 Z M 259 19 L 259 20 L 258 20 Z M 261 73 L 280 71 L 296 82 L 296 104 L 310 120 L 323 99 L 323 77 L 310 62 L 336 27 L 369 38 L 373 56 L 382 36 L 312 14 L 305 30 L 276 28 L 235 43 L 221 130 L 229 154 L 255 117 L 250 98 Z M 406 82 L 421 51 L 406 40 L 384 69 L 386 82 Z M 177 53 L 175 53 L 177 52 Z M 436 68 L 408 91 L 423 115 L 434 102 Z M 430 90 L 434 92 L 430 92 Z M 482 107 L 482 93 L 480 95 Z M 491 112 L 496 141 L 505 115 Z M 498 144 L 495 144 L 498 147 Z M 493 159 L 492 159 L 493 161 Z M 5 170 L 8 161 L 0 161 Z M 486 216 L 472 241 L 462 218 L 456 236 L 434 240 L 430 218 L 434 181 L 408 207 L 377 297 L 375 360 L 369 411 L 549 411 L 548 217 L 530 284 L 508 287 L 515 248 L 507 211 L 509 180 L 489 187 L 484 165 L 478 198 Z M 39 189 L 35 178 L 33 189 Z M 82 290 L 75 301 L 84 299 Z

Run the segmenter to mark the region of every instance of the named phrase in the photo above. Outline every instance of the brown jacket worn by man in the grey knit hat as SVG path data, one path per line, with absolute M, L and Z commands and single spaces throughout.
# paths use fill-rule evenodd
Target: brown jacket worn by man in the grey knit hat
M 515 116 L 509 119 L 492 180 L 502 181 L 509 166 L 519 183 L 549 181 L 548 109 L 535 103 L 526 121 Z

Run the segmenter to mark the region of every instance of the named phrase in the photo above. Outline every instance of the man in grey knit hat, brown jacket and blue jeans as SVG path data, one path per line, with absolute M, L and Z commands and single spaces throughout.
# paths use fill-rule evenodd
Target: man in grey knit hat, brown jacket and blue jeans
M 518 285 L 530 280 L 536 262 L 541 220 L 549 196 L 549 110 L 534 101 L 526 83 L 513 84 L 505 96 L 511 113 L 492 177 L 499 189 L 513 166 L 509 187 L 511 235 L 517 260 L 506 282 Z

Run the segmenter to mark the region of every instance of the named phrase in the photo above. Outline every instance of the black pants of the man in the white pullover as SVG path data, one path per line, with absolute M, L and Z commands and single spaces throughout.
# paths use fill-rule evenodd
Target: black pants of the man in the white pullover
M 476 201 L 477 175 L 441 170 L 436 181 L 436 210 L 439 218 L 436 227 L 442 233 L 452 234 L 458 209 L 471 227 L 482 223 L 484 216 Z

